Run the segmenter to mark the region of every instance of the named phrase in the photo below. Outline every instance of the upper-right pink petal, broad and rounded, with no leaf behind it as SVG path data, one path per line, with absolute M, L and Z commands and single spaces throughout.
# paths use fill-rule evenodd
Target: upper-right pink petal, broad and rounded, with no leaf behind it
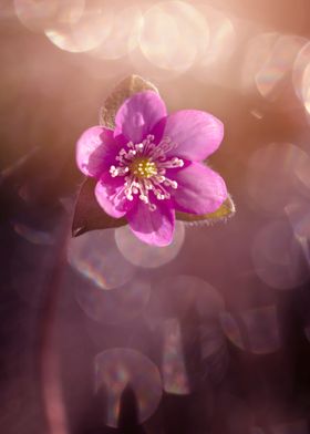
M 164 136 L 177 144 L 167 155 L 202 162 L 220 145 L 224 125 L 209 113 L 182 110 L 167 117 Z

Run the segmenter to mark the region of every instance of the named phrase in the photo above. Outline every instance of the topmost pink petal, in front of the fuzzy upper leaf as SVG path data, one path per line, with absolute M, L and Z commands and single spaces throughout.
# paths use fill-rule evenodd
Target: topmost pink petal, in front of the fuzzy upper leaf
M 128 141 L 141 143 L 166 115 L 165 103 L 157 93 L 138 92 L 127 99 L 116 113 L 114 136 L 123 134 Z

